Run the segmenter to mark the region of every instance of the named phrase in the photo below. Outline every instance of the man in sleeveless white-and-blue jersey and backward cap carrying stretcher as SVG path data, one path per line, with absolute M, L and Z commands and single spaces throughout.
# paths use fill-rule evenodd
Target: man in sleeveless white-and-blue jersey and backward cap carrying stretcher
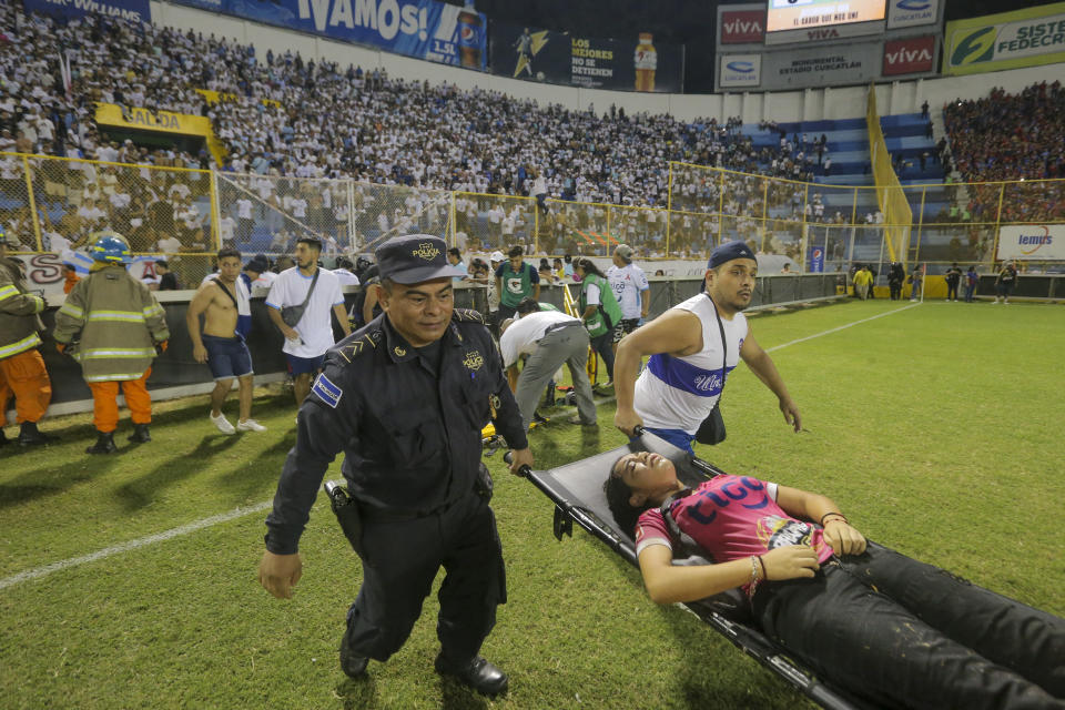
M 728 373 L 740 358 L 777 395 L 784 420 L 795 432 L 802 428 L 799 407 L 741 313 L 751 303 L 757 273 L 758 261 L 747 244 L 722 244 L 710 254 L 706 293 L 621 341 L 613 373 L 618 398 L 613 423 L 619 429 L 631 436 L 635 427 L 643 426 L 691 452 L 696 432 L 717 406 Z M 640 373 L 646 356 L 650 359 Z

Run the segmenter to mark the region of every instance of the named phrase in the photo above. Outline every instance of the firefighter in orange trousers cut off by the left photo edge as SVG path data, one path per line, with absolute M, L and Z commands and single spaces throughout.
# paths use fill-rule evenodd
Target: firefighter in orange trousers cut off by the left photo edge
M 22 265 L 8 256 L 8 248 L 20 246 L 0 230 L 0 422 L 7 424 L 8 399 L 13 394 L 19 445 L 32 446 L 55 437 L 37 428 L 52 400 L 52 383 L 38 349 L 44 300 L 30 293 Z M 0 428 L 0 446 L 7 443 Z

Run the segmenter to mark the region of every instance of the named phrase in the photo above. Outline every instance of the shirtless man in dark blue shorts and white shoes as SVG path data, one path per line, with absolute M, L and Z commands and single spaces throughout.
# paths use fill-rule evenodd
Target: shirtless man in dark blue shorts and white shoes
M 192 338 L 192 356 L 206 363 L 214 376 L 211 393 L 211 423 L 223 434 L 235 432 L 265 432 L 266 427 L 252 417 L 252 354 L 243 334 L 237 331 L 237 303 L 247 302 L 247 290 L 239 278 L 241 253 L 233 247 L 219 252 L 217 276 L 200 284 L 189 304 L 185 324 Z M 200 314 L 203 314 L 203 335 L 200 335 Z M 240 384 L 241 418 L 234 427 L 222 414 L 222 404 L 233 388 L 233 378 Z

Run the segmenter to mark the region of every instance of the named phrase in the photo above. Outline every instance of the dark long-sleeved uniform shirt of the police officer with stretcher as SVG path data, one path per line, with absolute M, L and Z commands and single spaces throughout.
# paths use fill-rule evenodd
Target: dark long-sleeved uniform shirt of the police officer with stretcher
M 326 353 L 266 518 L 270 551 L 296 551 L 341 450 L 348 489 L 364 507 L 417 516 L 474 489 L 489 418 L 511 447 L 528 446 L 484 317 L 456 308 L 438 348 L 418 352 L 381 315 Z

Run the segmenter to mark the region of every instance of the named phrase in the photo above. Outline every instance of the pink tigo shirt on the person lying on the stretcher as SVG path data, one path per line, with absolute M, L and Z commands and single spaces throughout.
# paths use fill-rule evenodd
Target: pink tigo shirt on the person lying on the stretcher
M 777 484 L 750 476 L 717 476 L 690 496 L 674 500 L 670 513 L 677 527 L 690 536 L 714 561 L 764 555 L 788 545 L 809 545 L 818 561 L 832 556 L 820 527 L 797 520 L 777 505 Z M 637 554 L 650 545 L 673 547 L 662 514 L 652 508 L 636 527 Z

